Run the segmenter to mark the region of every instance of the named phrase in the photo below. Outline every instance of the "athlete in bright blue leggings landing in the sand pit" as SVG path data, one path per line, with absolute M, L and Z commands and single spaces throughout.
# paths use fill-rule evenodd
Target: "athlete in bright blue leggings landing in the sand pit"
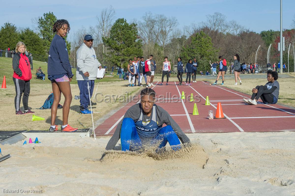
M 189 138 L 168 112 L 154 104 L 155 91 L 153 89 L 143 89 L 140 96 L 141 102 L 127 110 L 109 140 L 106 150 L 113 150 L 120 138 L 122 151 L 138 151 L 143 146 L 161 149 L 167 142 L 173 150 L 178 150 L 180 141 L 190 143 Z M 162 127 L 164 123 L 167 126 Z

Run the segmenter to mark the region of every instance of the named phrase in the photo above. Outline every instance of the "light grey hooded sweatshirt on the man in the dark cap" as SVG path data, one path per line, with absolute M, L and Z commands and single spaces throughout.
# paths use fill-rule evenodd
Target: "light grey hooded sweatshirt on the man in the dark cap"
M 76 80 L 95 80 L 97 69 L 101 64 L 96 59 L 94 48 L 89 48 L 86 44 L 81 44 L 76 52 L 77 71 Z M 84 73 L 88 72 L 89 77 L 85 77 Z

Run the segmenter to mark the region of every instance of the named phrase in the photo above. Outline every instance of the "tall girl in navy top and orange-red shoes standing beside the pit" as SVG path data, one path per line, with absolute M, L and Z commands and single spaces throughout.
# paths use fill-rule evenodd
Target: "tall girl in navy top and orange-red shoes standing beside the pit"
M 57 125 L 55 125 L 55 118 L 61 93 L 65 96 L 61 131 L 75 132 L 78 130 L 68 124 L 68 116 L 72 102 L 70 82 L 72 81 L 73 73 L 64 37 L 69 31 L 70 24 L 67 20 L 57 20 L 53 25 L 53 32 L 56 34 L 50 44 L 47 69 L 48 79 L 51 81 L 54 95 L 54 101 L 51 107 L 50 132 L 58 130 Z

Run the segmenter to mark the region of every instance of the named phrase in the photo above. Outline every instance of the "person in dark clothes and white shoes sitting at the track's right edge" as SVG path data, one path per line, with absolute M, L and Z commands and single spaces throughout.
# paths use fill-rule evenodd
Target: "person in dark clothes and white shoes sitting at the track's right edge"
M 267 71 L 267 81 L 264 86 L 256 86 L 252 89 L 251 99 L 243 99 L 245 103 L 257 105 L 257 100 L 261 98 L 264 104 L 276 104 L 278 102 L 278 94 L 280 85 L 277 81 L 278 73 L 272 70 Z

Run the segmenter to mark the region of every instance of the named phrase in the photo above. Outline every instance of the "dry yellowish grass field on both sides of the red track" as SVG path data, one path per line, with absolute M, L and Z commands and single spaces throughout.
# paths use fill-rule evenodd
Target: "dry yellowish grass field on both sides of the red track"
M 43 72 L 47 76 L 47 63 L 34 61 L 33 63 L 34 69 L 37 67 L 42 67 Z M 72 70 L 73 73 L 76 73 L 76 69 Z M 0 89 L 0 130 L 46 130 L 50 127 L 50 110 L 40 110 L 36 108 L 40 108 L 47 96 L 51 93 L 51 83 L 48 79 L 42 81 L 40 79 L 34 79 L 35 71 L 32 72 L 33 79 L 30 81 L 31 92 L 29 97 L 29 107 L 35 111 L 35 115 L 45 118 L 44 121 L 34 121 L 32 122 L 32 114 L 26 115 L 15 115 L 14 109 L 14 97 L 15 97 L 15 87 L 12 81 L 12 59 L 0 57 L 0 79 L 2 82 L 3 76 L 6 76 L 6 86 L 7 89 Z M 294 73 L 288 73 L 290 76 L 294 77 Z M 251 94 L 251 90 L 261 84 L 265 84 L 267 82 L 266 79 L 259 78 L 251 78 L 245 79 L 244 75 L 241 75 L 242 85 L 235 86 L 235 81 L 232 78 L 227 78 L 225 76 L 224 87 L 229 87 L 231 89 L 238 90 L 240 92 L 245 92 L 247 94 Z M 253 77 L 258 77 L 253 75 Z M 185 78 L 183 77 L 184 81 Z M 206 77 L 198 76 L 198 81 L 210 81 L 215 82 L 216 77 Z M 160 81 L 160 74 L 156 74 L 155 81 Z M 165 79 L 164 79 L 165 80 Z M 175 75 L 172 75 L 169 81 L 178 81 Z M 280 83 L 280 95 L 278 103 L 286 104 L 289 106 L 295 107 L 295 86 L 292 85 L 295 82 L 295 78 L 279 78 Z M 154 82 L 155 83 L 155 82 Z M 165 82 L 164 82 L 165 83 Z M 221 79 L 219 79 L 219 83 L 221 83 Z M 102 93 L 103 95 L 117 96 L 124 95 L 126 96 L 127 92 L 131 95 L 137 94 L 144 87 L 127 87 L 127 81 L 119 81 L 118 76 L 114 75 L 114 77 L 104 77 L 98 83 L 96 80 L 96 84 L 94 87 L 94 92 L 96 91 L 96 87 L 98 86 L 97 92 Z M 163 86 L 165 88 L 165 86 Z M 73 95 L 73 100 L 71 103 L 71 110 L 69 115 L 68 123 L 76 128 L 89 128 L 92 127 L 91 115 L 82 115 L 79 114 L 79 99 L 75 100 L 75 95 L 79 95 L 79 88 L 77 85 L 76 77 L 74 76 L 73 81 L 71 82 L 71 91 Z M 97 96 L 97 99 L 101 99 L 102 96 Z M 64 97 L 61 97 L 60 104 L 63 104 Z M 94 112 L 94 121 L 97 121 L 104 117 L 105 114 L 109 113 L 113 109 L 117 109 L 118 107 L 123 106 L 124 103 L 114 102 L 111 99 L 110 102 L 101 102 L 93 107 Z M 21 103 L 21 110 L 23 110 Z M 123 115 L 123 114 L 122 114 Z M 62 109 L 58 110 L 56 124 L 62 124 Z

